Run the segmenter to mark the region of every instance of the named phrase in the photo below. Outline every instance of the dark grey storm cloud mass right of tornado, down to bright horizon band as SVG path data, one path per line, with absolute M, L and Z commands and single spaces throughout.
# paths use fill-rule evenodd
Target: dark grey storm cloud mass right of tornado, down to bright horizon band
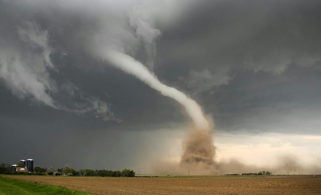
M 219 129 L 316 134 L 320 11 L 317 1 L 195 3 L 160 22 L 159 75 Z

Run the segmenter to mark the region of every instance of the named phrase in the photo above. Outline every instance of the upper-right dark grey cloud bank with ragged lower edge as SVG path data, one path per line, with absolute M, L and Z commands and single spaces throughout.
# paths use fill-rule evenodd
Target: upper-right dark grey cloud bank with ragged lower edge
M 317 1 L 198 2 L 170 28 L 161 26 L 161 68 L 175 76 L 210 70 L 215 78 L 223 71 L 231 77 L 234 69 L 279 73 L 292 62 L 314 65 L 320 60 L 319 17 Z

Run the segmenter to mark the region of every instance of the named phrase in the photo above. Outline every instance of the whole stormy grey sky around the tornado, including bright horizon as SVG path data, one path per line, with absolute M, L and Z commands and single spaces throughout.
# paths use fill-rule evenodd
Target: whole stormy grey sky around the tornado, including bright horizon
M 143 170 L 181 155 L 184 109 L 106 48 L 212 116 L 217 159 L 235 144 L 321 159 L 319 1 L 0 0 L 0 17 L 0 162 Z

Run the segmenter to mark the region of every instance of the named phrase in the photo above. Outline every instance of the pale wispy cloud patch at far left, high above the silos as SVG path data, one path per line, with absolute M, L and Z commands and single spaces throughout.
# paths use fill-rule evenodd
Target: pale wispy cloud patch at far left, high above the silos
M 32 97 L 42 104 L 56 107 L 49 95 L 56 91 L 56 83 L 50 79 L 47 70 L 47 66 L 53 68 L 48 33 L 35 23 L 27 22 L 26 26 L 18 27 L 17 33 L 22 41 L 18 46 L 14 47 L 14 41 L 9 38 L 4 41 L 8 41 L 5 47 L 0 48 L 0 77 L 19 98 Z

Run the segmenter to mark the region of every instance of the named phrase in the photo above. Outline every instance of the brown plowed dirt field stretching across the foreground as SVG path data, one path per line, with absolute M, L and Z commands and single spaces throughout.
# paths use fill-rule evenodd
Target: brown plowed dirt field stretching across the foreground
M 94 194 L 321 194 L 321 177 L 68 177 L 68 176 L 6 176 L 60 185 Z

